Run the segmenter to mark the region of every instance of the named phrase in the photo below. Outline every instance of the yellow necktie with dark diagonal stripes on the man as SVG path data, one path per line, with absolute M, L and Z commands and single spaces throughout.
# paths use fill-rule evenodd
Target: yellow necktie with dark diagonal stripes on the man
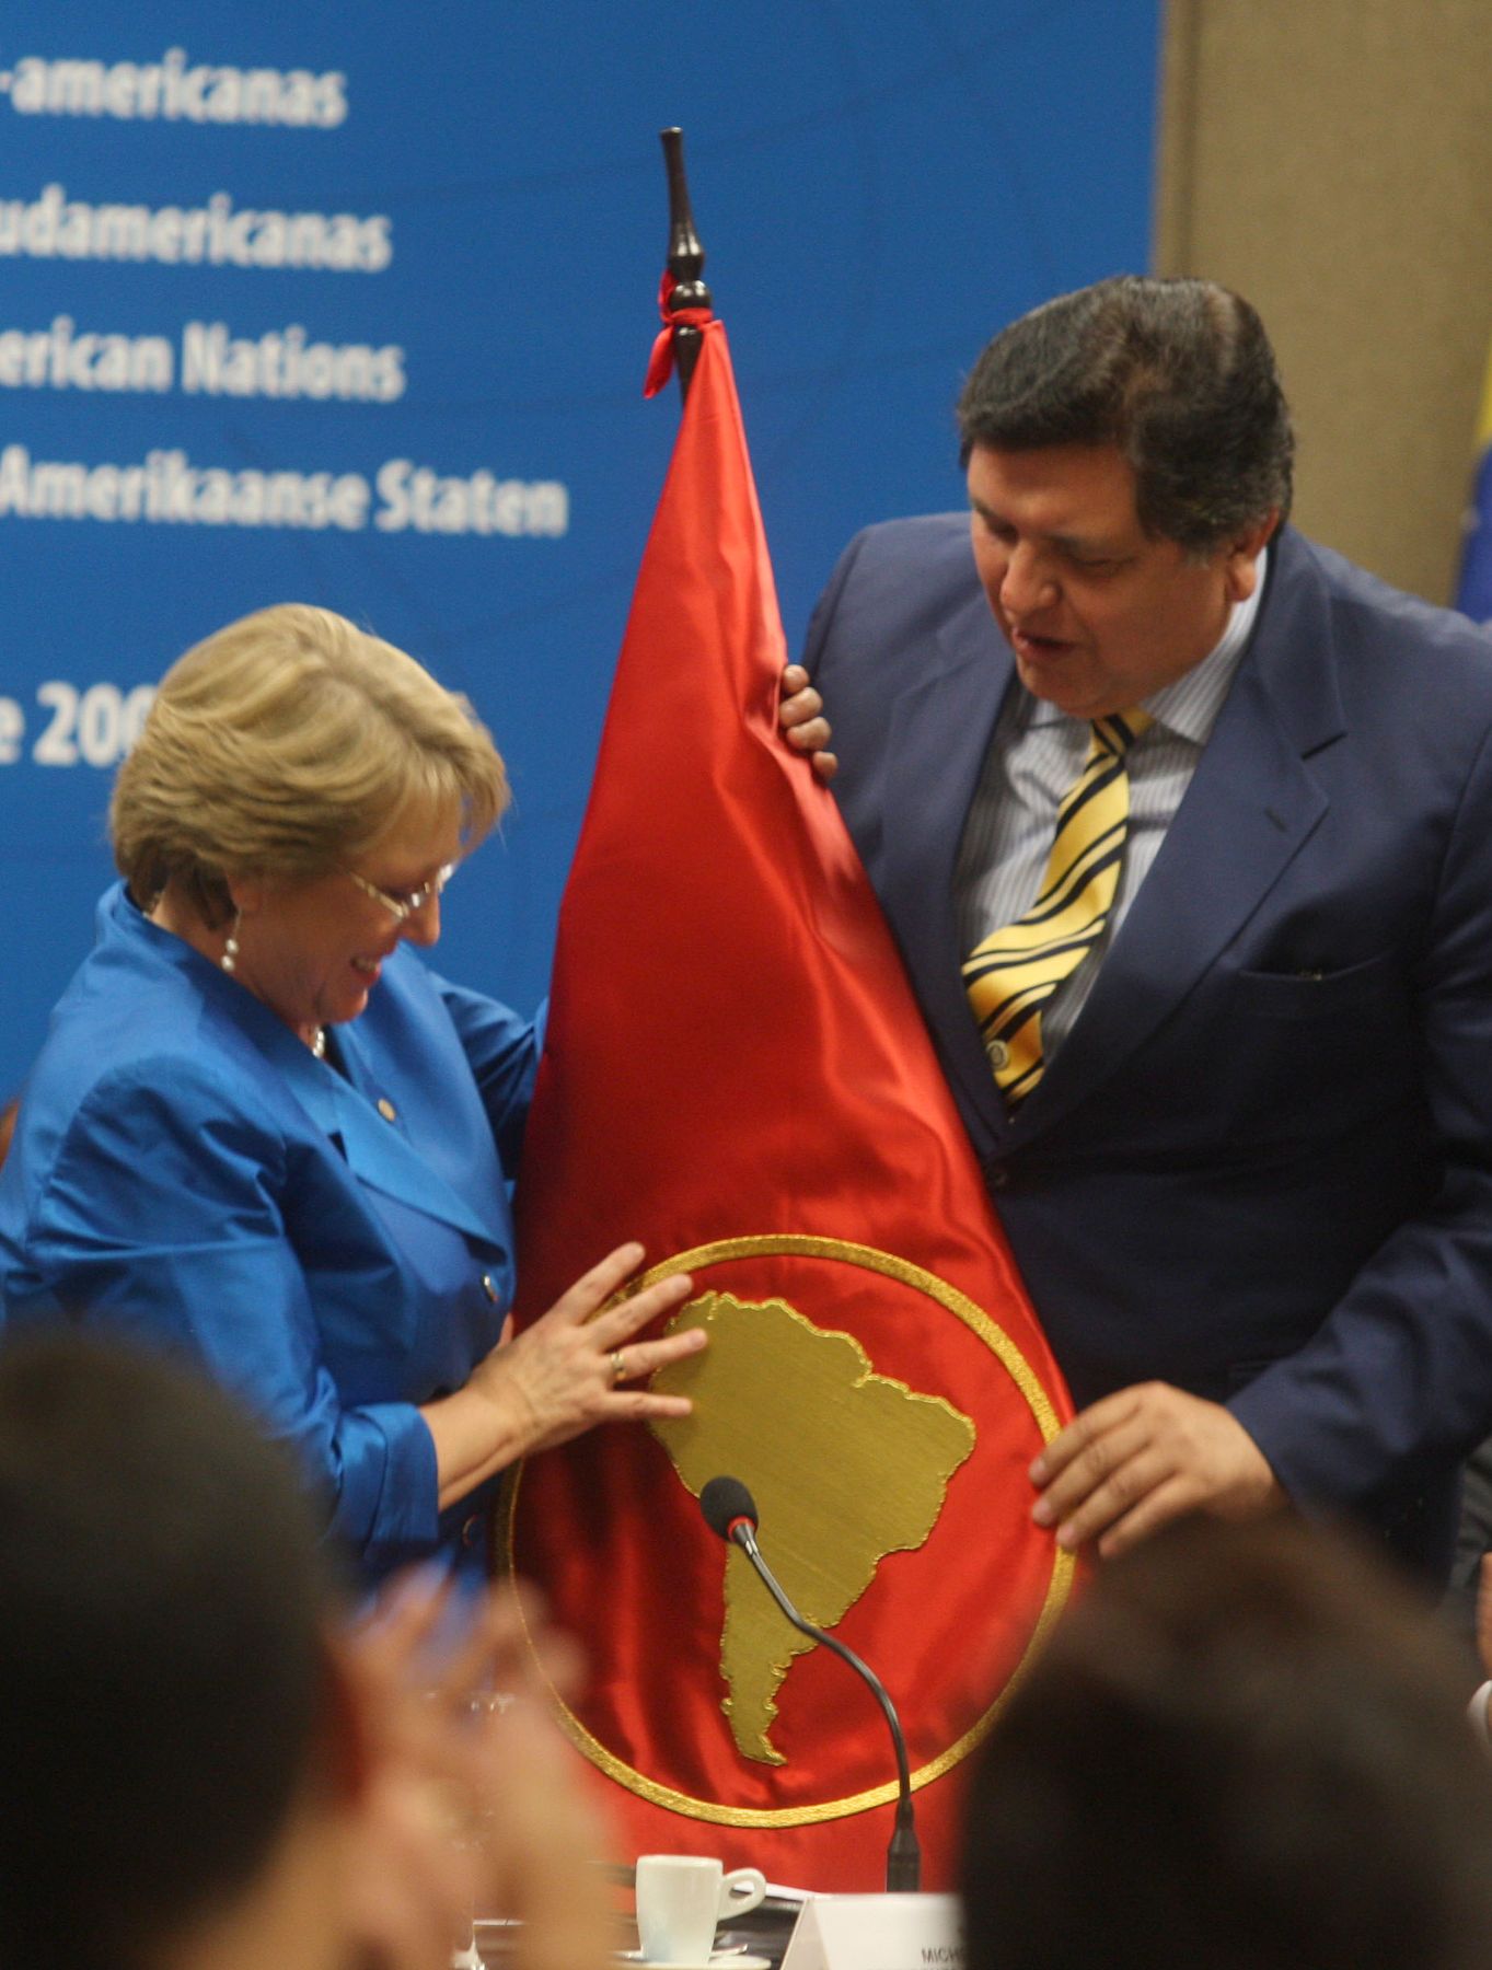
M 1025 1101 L 1047 1066 L 1043 1007 L 1104 936 L 1129 829 L 1125 753 L 1149 723 L 1149 711 L 1092 721 L 1088 758 L 1056 810 L 1037 900 L 964 961 L 964 989 L 1009 1107 Z

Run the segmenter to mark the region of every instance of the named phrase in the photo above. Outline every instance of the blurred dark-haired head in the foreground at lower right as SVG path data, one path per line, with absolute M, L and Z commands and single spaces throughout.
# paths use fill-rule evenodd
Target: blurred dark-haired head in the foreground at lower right
M 1295 1521 L 1104 1566 L 997 1720 L 970 1970 L 1484 1970 L 1492 1765 L 1449 1637 Z

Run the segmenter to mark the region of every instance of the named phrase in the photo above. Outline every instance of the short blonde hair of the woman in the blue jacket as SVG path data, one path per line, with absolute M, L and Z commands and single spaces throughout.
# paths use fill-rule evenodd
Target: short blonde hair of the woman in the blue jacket
M 457 812 L 475 845 L 507 804 L 503 758 L 465 697 L 345 617 L 282 603 L 171 664 L 108 827 L 138 902 L 177 881 L 217 924 L 227 875 L 327 875 L 412 806 Z

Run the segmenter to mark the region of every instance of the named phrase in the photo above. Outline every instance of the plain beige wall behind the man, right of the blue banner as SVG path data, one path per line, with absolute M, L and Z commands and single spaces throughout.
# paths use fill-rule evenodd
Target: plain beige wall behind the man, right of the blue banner
M 1169 0 L 1155 264 L 1263 315 L 1301 526 L 1447 601 L 1492 337 L 1492 0 Z

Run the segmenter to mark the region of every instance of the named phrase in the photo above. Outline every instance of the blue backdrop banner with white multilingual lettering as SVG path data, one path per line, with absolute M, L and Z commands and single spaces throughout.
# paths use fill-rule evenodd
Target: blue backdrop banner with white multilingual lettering
M 1145 266 L 1157 10 L 10 0 L 0 1095 L 93 936 L 152 682 L 274 601 L 491 725 L 516 804 L 438 963 L 530 1007 L 674 435 L 658 128 L 796 640 L 857 526 L 960 504 L 983 341 Z

